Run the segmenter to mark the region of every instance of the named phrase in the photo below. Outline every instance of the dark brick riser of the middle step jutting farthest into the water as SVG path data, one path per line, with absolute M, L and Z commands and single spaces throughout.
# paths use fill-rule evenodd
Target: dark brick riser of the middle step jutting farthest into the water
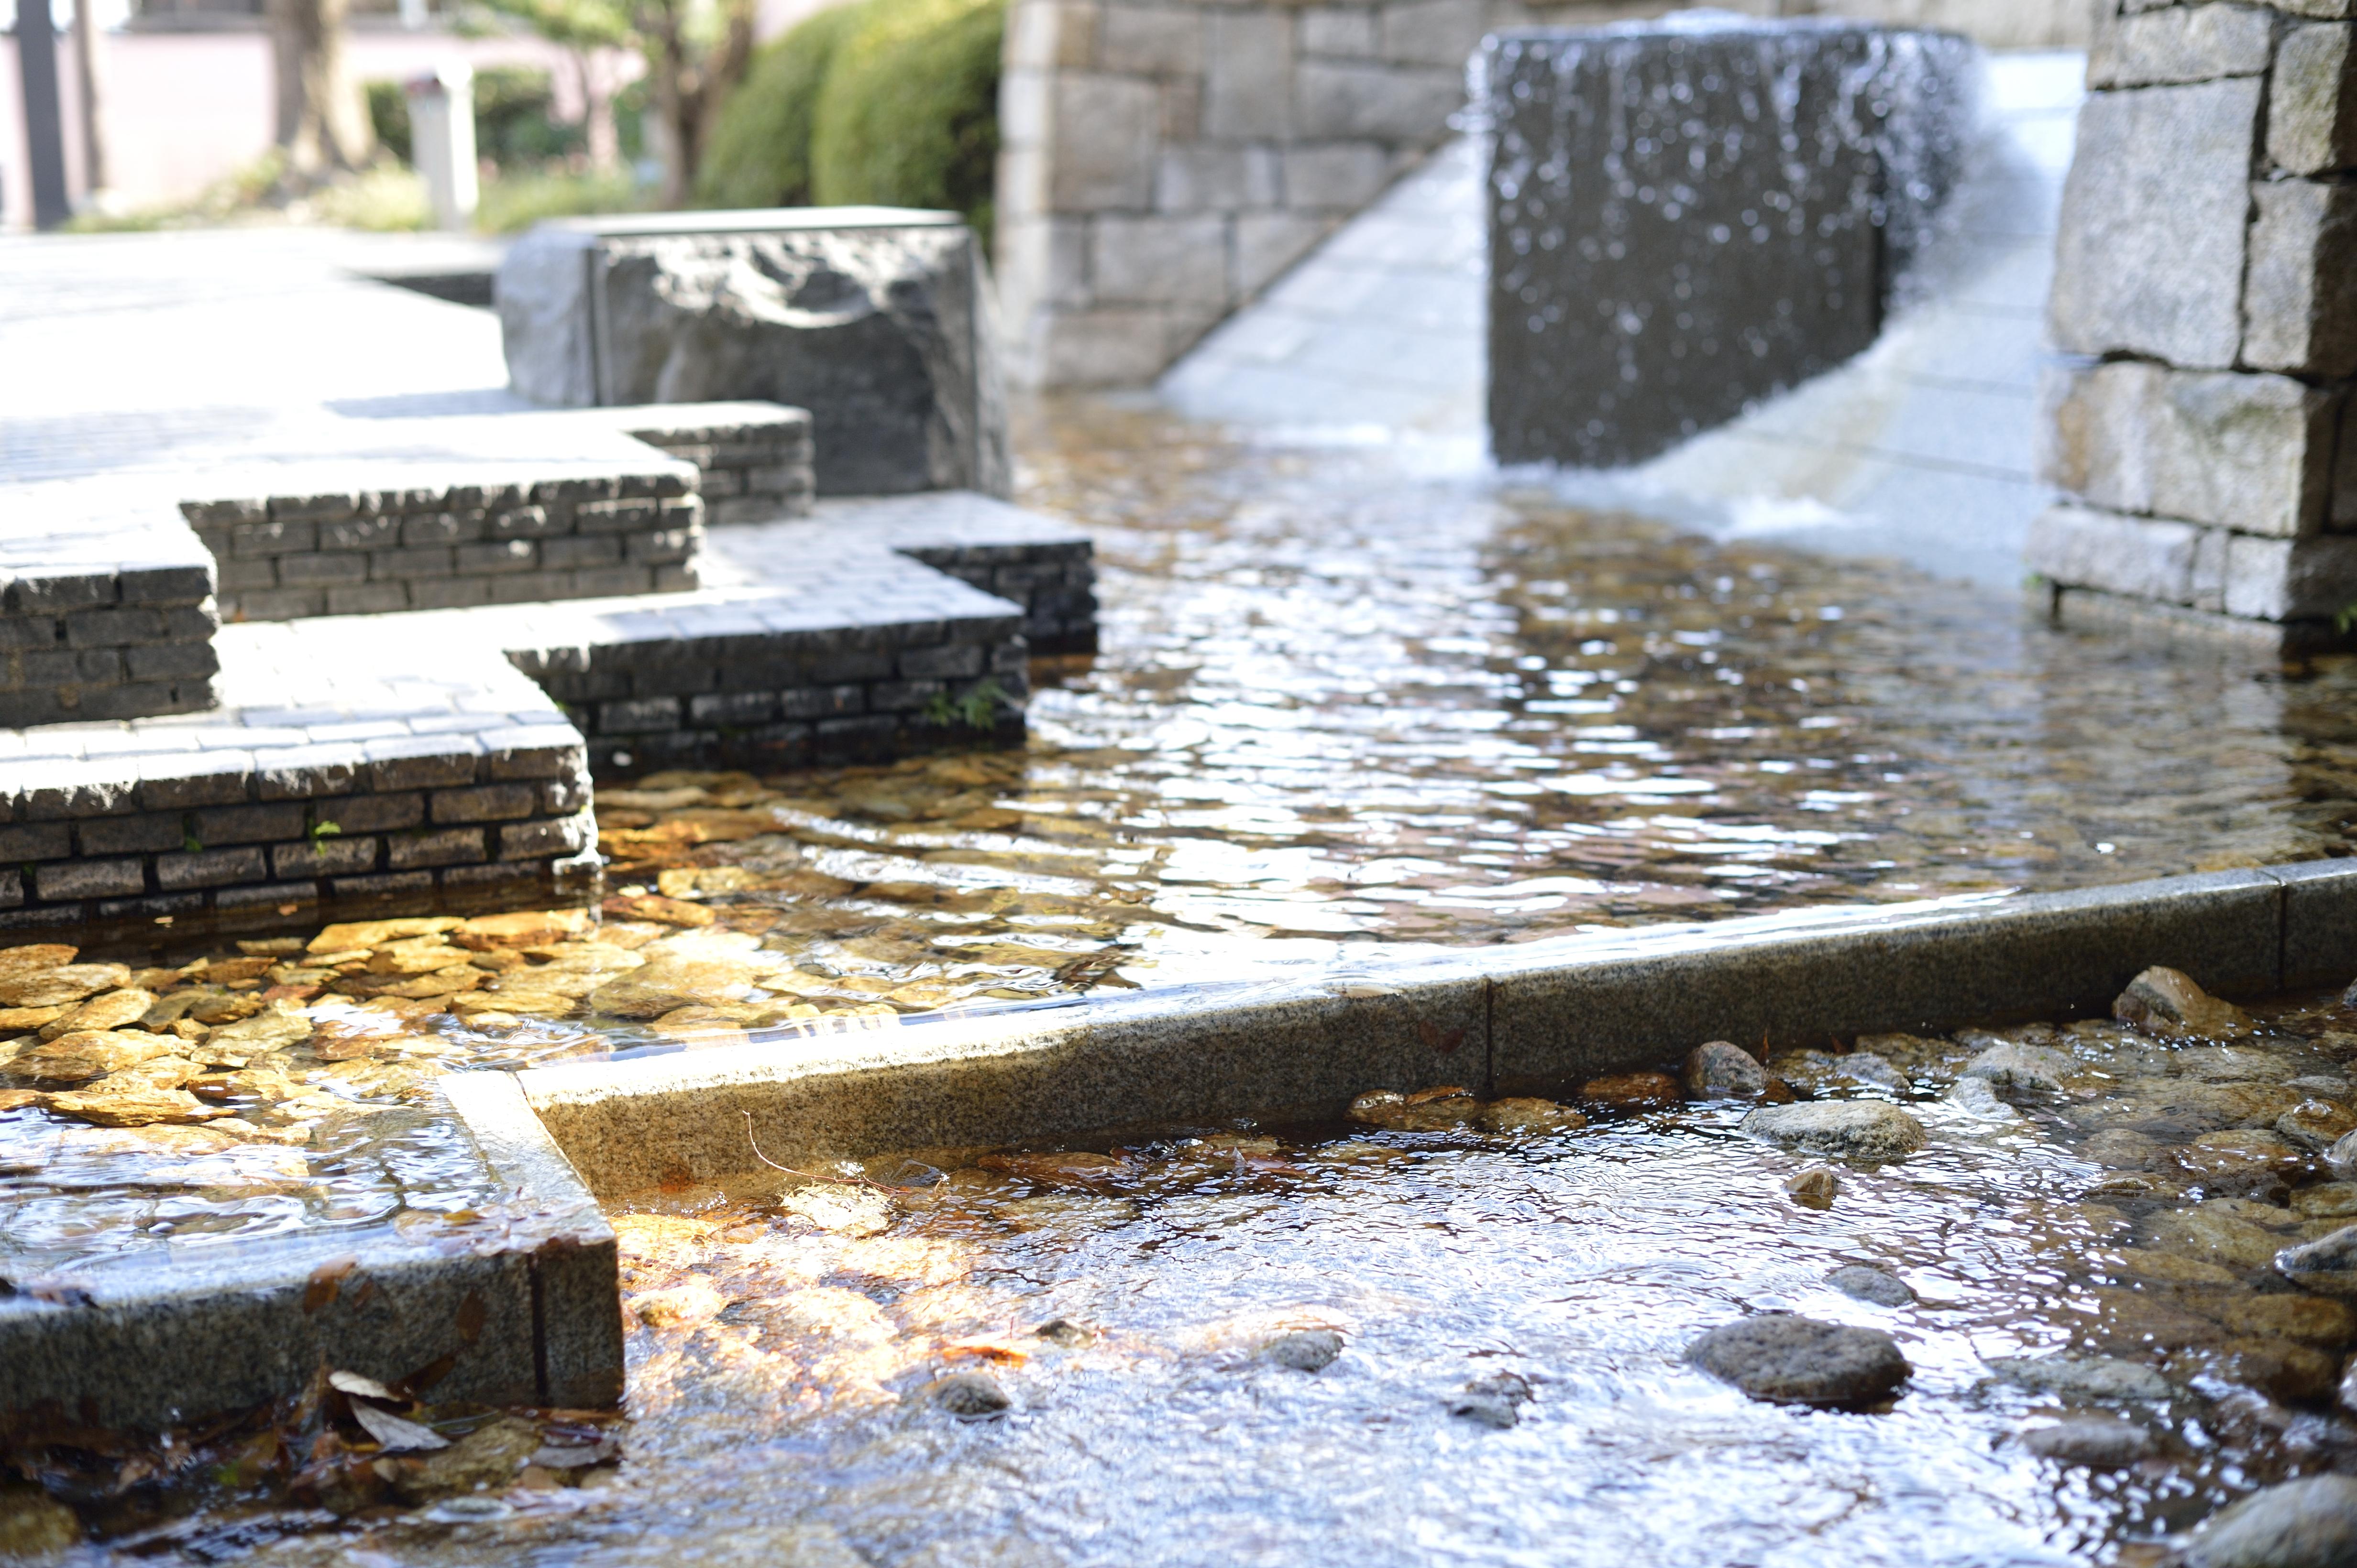
M 955 617 L 780 631 L 735 605 L 669 636 L 511 652 L 589 737 L 599 777 L 674 765 L 806 768 L 1023 735 L 1023 622 Z

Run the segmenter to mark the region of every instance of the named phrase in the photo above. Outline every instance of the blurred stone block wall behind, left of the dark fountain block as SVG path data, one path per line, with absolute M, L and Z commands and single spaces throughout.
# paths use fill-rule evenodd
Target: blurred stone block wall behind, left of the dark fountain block
M 1016 0 L 999 80 L 1009 379 L 1148 381 L 1450 134 L 1518 0 Z

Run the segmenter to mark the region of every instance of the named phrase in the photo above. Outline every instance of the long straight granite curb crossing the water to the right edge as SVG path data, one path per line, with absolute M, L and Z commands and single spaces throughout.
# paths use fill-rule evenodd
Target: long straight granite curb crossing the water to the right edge
M 1652 925 L 1237 986 L 570 1062 L 521 1092 L 592 1191 L 1138 1123 L 1339 1116 L 1369 1088 L 1570 1092 L 1711 1038 L 2107 1012 L 2143 968 L 2225 996 L 2357 975 L 2357 859 Z

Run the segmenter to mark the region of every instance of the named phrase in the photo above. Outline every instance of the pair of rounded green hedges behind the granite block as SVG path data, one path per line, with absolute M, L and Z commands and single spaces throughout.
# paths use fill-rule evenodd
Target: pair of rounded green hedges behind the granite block
M 698 195 L 726 207 L 948 207 L 988 250 L 1006 0 L 858 0 L 764 49 Z

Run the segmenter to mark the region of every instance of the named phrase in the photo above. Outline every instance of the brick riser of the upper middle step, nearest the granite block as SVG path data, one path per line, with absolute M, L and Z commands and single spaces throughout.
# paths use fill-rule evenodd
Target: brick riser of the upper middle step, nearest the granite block
M 676 471 L 184 501 L 226 619 L 457 610 L 695 586 L 702 499 Z

